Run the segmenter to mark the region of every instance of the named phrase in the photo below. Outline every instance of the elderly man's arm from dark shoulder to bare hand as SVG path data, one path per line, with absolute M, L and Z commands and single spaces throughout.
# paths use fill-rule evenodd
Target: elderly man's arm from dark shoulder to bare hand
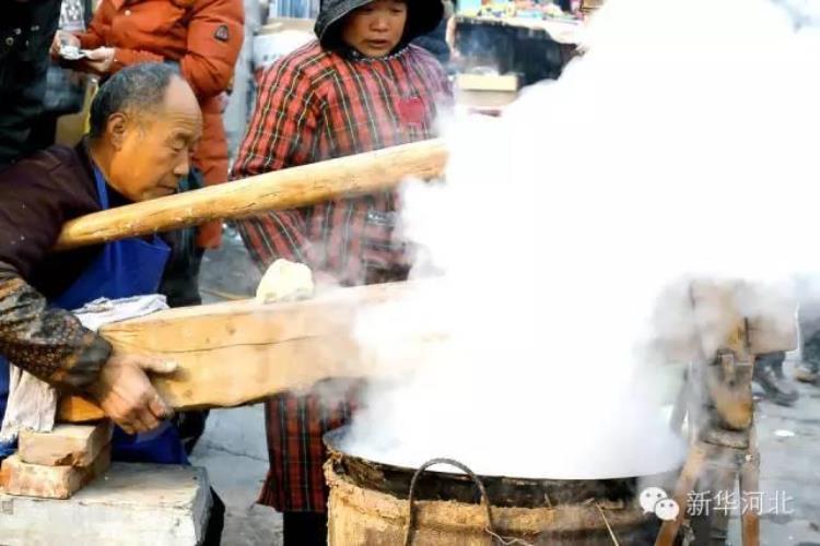
M 72 193 L 77 171 L 59 168 L 59 155 L 0 173 L 0 354 L 56 387 L 85 391 L 127 432 L 150 430 L 173 411 L 145 372 L 173 371 L 173 363 L 112 354 L 105 340 L 48 306 L 25 281 L 54 247 L 69 211 L 82 207 L 81 192 Z

